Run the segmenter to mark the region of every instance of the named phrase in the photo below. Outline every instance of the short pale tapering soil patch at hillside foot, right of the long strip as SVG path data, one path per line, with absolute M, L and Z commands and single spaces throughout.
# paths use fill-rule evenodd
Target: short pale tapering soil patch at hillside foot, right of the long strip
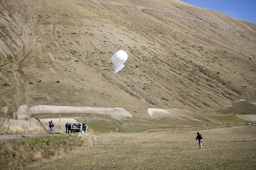
M 151 118 L 157 119 L 157 118 L 174 118 L 177 120 L 182 121 L 205 121 L 204 118 L 202 118 L 199 115 L 196 115 L 195 113 L 186 110 L 186 109 L 159 109 L 159 108 L 148 108 L 148 115 Z

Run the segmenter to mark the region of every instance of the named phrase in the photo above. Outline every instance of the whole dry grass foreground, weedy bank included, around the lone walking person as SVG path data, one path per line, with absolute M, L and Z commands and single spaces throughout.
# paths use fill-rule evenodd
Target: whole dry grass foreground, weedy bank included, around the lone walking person
M 256 126 L 184 133 L 46 135 L 0 140 L 5 169 L 253 169 Z M 51 145 L 51 147 L 50 147 Z M 3 147 L 4 146 L 4 147 Z M 7 154 L 9 155 L 8 157 Z M 27 158 L 30 159 L 27 159 Z

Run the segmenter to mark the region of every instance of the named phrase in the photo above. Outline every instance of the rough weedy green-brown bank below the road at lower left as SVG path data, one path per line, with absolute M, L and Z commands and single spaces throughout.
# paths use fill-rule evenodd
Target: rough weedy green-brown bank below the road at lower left
M 88 142 L 88 134 L 56 134 L 24 139 L 0 140 L 1 169 L 26 169 L 37 161 L 56 158 Z

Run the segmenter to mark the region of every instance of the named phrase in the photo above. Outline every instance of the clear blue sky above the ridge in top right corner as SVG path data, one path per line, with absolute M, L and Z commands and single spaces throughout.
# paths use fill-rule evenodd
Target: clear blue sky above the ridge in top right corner
M 256 24 L 256 0 L 180 0 Z

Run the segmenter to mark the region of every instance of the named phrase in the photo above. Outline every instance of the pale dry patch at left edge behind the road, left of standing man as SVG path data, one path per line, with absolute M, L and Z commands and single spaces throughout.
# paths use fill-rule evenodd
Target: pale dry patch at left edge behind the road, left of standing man
M 7 118 L 0 118 L 0 133 L 6 133 L 8 124 Z M 44 127 L 36 119 L 13 120 L 9 119 L 9 133 L 42 133 Z

